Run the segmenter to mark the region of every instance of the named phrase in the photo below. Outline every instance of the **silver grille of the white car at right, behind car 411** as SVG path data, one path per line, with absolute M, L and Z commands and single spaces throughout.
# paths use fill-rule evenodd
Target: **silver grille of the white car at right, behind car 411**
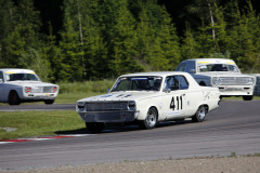
M 221 85 L 251 85 L 248 77 L 221 77 Z

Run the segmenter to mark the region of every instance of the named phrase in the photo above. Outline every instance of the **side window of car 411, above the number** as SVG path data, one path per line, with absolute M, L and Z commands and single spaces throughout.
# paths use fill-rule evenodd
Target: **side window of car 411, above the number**
M 183 76 L 170 76 L 166 78 L 166 89 L 174 90 L 186 90 L 188 89 L 188 83 Z

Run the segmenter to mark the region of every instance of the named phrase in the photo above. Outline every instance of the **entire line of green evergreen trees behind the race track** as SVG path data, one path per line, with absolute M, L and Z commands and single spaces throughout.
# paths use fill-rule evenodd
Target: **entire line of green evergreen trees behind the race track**
M 58 4 L 42 10 L 43 2 Z M 34 69 L 54 82 L 83 81 L 225 57 L 244 72 L 260 71 L 255 1 L 191 0 L 183 9 L 170 0 L 43 2 L 0 0 L 0 68 Z

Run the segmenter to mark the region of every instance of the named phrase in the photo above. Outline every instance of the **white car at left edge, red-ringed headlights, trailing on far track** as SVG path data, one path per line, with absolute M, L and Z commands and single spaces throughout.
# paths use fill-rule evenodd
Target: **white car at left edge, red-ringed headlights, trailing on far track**
M 22 102 L 53 104 L 58 93 L 58 85 L 41 82 L 30 69 L 0 69 L 0 103 L 18 105 Z

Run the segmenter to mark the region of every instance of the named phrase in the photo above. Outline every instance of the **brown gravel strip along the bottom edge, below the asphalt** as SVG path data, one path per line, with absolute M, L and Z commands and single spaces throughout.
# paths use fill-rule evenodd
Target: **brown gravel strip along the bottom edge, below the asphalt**
M 155 161 L 123 161 L 80 167 L 61 167 L 0 173 L 259 173 L 260 157 L 191 158 Z

